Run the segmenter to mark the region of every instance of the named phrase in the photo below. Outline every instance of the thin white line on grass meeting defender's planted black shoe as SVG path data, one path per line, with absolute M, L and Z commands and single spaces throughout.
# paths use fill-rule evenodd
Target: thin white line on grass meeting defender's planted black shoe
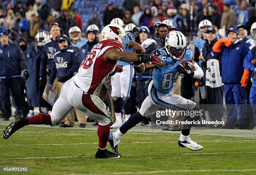
M 163 153 L 163 154 L 129 154 L 123 156 L 152 156 L 152 155 L 214 155 L 214 154 L 256 154 L 256 152 L 220 152 L 220 153 Z M 27 158 L 0 158 L 0 160 L 18 160 L 18 159 L 66 159 L 66 158 L 92 158 L 94 155 L 86 156 L 56 156 L 56 157 L 27 157 Z

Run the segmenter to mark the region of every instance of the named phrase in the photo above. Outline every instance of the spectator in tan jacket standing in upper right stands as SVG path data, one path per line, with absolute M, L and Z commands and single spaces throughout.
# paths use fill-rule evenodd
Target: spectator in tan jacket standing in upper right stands
M 220 20 L 220 28 L 225 26 L 225 30 L 232 28 L 235 26 L 235 12 L 230 9 L 230 4 L 225 3 L 224 5 L 224 13 L 221 16 Z

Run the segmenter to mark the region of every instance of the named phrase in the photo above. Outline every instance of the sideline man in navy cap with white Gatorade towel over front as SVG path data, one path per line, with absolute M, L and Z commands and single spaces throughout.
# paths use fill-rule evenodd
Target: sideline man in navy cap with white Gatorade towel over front
M 216 31 L 212 27 L 207 28 L 205 33 L 206 42 L 202 49 L 202 56 L 206 61 L 207 67 L 205 85 L 207 87 L 207 103 L 211 105 L 208 110 L 212 121 L 221 121 L 223 115 L 223 107 L 220 106 L 223 104 L 223 83 L 221 82 L 221 65 L 219 62 L 221 56 L 212 56 L 212 47 L 218 39 Z M 214 128 L 219 128 L 220 126 L 214 125 Z

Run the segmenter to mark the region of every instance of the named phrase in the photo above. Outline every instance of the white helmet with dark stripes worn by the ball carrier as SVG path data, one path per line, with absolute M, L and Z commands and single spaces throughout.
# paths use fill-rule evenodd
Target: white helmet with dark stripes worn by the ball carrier
M 166 52 L 175 60 L 182 60 L 187 48 L 187 40 L 182 32 L 172 31 L 165 37 Z

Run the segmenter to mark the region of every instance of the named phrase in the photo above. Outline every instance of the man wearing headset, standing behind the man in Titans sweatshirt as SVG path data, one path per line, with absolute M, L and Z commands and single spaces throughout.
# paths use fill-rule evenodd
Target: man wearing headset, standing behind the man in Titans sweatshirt
M 40 65 L 40 95 L 43 95 L 46 82 L 51 74 L 51 67 L 53 65 L 54 54 L 59 51 L 58 37 L 61 35 L 61 28 L 58 23 L 54 23 L 50 26 L 50 35 L 52 36 L 50 40 L 46 41 L 43 47 L 41 55 L 41 65 Z M 53 88 L 56 88 L 56 80 L 53 83 Z M 43 98 L 40 99 L 40 112 L 47 113 L 51 109 L 51 105 L 48 104 Z

